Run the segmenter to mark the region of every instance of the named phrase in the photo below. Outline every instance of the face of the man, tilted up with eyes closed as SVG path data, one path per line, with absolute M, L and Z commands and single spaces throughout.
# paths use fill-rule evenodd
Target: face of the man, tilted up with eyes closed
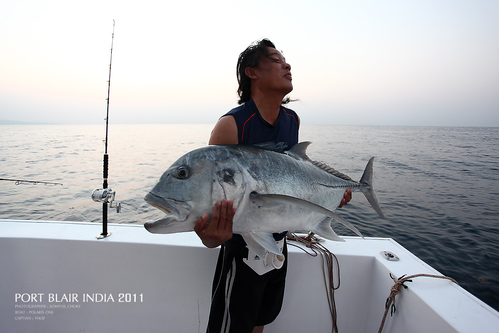
M 260 58 L 258 67 L 253 68 L 256 74 L 255 84 L 261 90 L 279 91 L 284 95 L 293 90 L 291 82 L 291 66 L 282 54 L 273 47 L 267 47 L 268 55 Z

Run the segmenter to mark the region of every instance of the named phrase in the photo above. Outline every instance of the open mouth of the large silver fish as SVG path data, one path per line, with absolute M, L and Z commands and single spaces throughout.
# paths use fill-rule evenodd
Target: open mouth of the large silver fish
M 170 225 L 174 221 L 185 221 L 192 211 L 192 206 L 183 201 L 163 198 L 151 192 L 146 194 L 144 200 L 149 205 L 166 213 L 166 216 L 157 220 L 149 220 L 144 224 L 147 231 L 155 234 L 170 234 L 178 232 L 175 231 L 176 228 L 172 228 Z

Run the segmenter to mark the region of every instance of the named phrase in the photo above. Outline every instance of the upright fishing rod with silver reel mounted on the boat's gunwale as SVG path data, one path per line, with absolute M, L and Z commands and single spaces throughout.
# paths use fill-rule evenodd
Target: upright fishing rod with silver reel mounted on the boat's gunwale
M 111 90 L 111 62 L 113 59 L 113 42 L 114 42 L 114 19 L 113 19 L 113 34 L 111 38 L 111 58 L 109 60 L 109 80 L 107 88 L 107 114 L 106 114 L 106 139 L 104 140 L 105 151 L 104 151 L 104 172 L 103 172 L 103 182 L 101 189 L 96 189 L 92 192 L 92 199 L 95 202 L 102 203 L 102 233 L 98 234 L 96 237 L 98 239 L 106 238 L 111 236 L 111 232 L 107 231 L 107 204 L 109 203 L 110 208 L 116 208 L 116 213 L 121 211 L 121 202 L 117 202 L 116 206 L 113 206 L 114 196 L 116 192 L 112 189 L 107 188 L 107 177 L 109 169 L 109 155 L 107 155 L 107 134 L 109 129 L 109 92 Z

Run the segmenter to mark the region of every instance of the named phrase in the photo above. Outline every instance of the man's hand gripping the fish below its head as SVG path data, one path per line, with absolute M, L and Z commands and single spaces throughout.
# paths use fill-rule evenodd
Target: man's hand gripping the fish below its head
M 216 248 L 232 238 L 232 219 L 236 213 L 233 204 L 226 199 L 217 202 L 209 223 L 208 214 L 196 221 L 194 231 L 207 248 Z

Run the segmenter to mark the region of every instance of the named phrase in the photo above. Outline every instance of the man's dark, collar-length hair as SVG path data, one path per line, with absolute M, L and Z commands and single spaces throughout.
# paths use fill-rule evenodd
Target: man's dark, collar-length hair
M 268 55 L 267 47 L 275 48 L 275 45 L 270 40 L 264 38 L 248 46 L 239 55 L 237 67 L 239 104 L 249 101 L 251 96 L 251 81 L 248 75 L 246 75 L 245 70 L 247 67 L 258 67 L 260 57 Z

